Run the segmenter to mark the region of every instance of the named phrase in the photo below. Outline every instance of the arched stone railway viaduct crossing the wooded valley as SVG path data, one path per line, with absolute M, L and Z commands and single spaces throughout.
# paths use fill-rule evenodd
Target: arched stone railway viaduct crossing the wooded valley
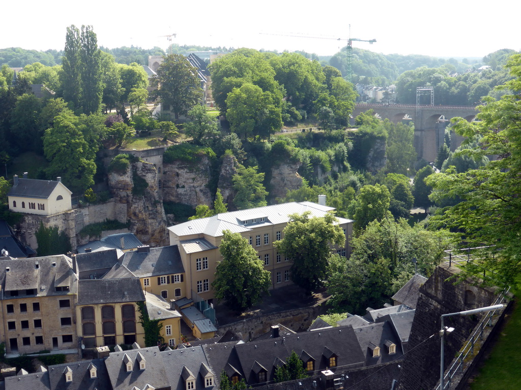
M 393 123 L 412 121 L 414 123 L 414 147 L 419 158 L 435 161 L 438 150 L 443 144 L 445 127 L 452 118 L 461 116 L 471 122 L 478 111 L 473 106 L 418 106 L 382 105 L 358 103 L 353 110 L 353 117 L 367 110 L 374 110 L 382 119 Z M 461 145 L 463 138 L 452 133 L 451 150 Z

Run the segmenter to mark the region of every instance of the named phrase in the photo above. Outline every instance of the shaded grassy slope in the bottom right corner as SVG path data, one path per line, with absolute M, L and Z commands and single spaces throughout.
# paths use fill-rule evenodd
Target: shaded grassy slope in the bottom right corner
M 518 295 L 518 291 L 514 292 Z M 479 375 L 474 378 L 470 388 L 472 390 L 511 390 L 518 388 L 521 383 L 521 354 L 519 341 L 521 340 L 521 309 L 518 302 L 514 303 L 510 316 L 506 317 L 506 324 L 490 355 L 479 369 Z M 517 383 L 517 385 L 516 385 Z

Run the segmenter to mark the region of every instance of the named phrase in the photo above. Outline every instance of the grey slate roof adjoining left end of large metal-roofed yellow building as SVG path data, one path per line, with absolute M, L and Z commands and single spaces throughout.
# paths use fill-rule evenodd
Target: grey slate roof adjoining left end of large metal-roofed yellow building
M 140 278 L 184 272 L 177 245 L 150 248 L 150 252 L 126 252 L 121 264 Z

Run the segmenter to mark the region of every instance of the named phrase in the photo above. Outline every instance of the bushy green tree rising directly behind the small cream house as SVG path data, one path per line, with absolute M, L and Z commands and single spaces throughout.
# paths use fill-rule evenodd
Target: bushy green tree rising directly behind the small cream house
M 73 121 L 67 114 L 58 115 L 54 126 L 45 131 L 43 150 L 50 161 L 48 176 L 61 176 L 71 191 L 83 193 L 94 184 L 96 164 L 85 156 L 89 144 Z

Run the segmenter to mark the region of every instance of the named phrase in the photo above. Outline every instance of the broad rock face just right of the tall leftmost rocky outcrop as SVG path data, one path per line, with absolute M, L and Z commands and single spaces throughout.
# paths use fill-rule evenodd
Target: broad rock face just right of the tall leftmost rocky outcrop
M 163 164 L 163 200 L 189 204 L 212 204 L 212 194 L 208 189 L 210 161 L 203 156 L 199 164 L 177 161 Z

